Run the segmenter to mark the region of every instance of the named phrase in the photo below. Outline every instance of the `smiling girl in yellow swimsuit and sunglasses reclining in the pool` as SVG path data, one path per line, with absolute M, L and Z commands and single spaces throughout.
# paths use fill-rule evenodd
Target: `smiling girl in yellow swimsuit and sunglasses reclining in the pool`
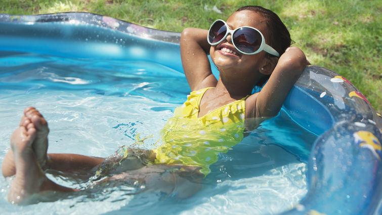
M 181 198 L 194 194 L 218 154 L 241 141 L 245 126 L 256 126 L 259 119 L 280 110 L 307 65 L 304 53 L 290 45 L 279 17 L 258 6 L 240 8 L 226 22 L 215 21 L 209 30 L 184 29 L 181 57 L 192 92 L 164 126 L 163 144 L 153 150 L 121 147 L 106 159 L 48 155 L 47 121 L 36 109 L 26 108 L 2 164 L 4 177 L 16 174 L 8 199 L 25 203 L 43 191 L 78 191 L 49 180 L 46 169 L 84 180 L 91 177 L 91 187 L 138 182 L 145 185 L 141 191 Z M 207 53 L 219 69 L 218 80 Z M 253 87 L 267 79 L 262 90 L 251 95 Z

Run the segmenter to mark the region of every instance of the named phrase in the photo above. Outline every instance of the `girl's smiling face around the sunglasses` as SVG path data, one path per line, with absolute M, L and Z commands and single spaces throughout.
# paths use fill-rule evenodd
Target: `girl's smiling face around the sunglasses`
M 238 11 L 228 18 L 227 24 L 232 30 L 242 26 L 257 28 L 267 38 L 268 30 L 265 21 L 266 19 L 256 12 Z M 210 57 L 218 69 L 234 68 L 239 70 L 238 72 L 259 70 L 260 62 L 266 60 L 266 52 L 262 51 L 254 55 L 241 54 L 233 46 L 231 36 L 229 34 L 220 44 L 210 48 Z

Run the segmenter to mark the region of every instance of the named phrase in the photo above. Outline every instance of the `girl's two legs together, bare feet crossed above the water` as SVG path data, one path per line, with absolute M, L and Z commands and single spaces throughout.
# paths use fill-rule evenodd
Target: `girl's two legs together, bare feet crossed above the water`
M 2 171 L 5 177 L 16 174 L 8 195 L 10 201 L 23 202 L 27 197 L 47 190 L 70 192 L 67 188 L 50 181 L 43 171 L 55 169 L 67 173 L 73 171 L 92 174 L 95 167 L 112 165 L 113 159 L 89 157 L 76 154 L 49 154 L 47 156 L 49 133 L 44 117 L 34 108 L 26 108 L 20 126 L 11 137 L 11 149 L 6 155 Z M 116 168 L 111 170 L 114 176 L 102 181 L 123 183 L 123 179 L 144 182 L 144 191 L 162 191 L 167 194 L 177 193 L 178 197 L 188 197 L 201 188 L 203 175 L 197 168 L 190 166 L 149 165 L 146 161 L 155 159 L 155 154 L 145 150 L 129 149 L 132 154 L 118 160 Z M 102 164 L 103 163 L 103 164 Z M 144 166 L 144 167 L 142 167 Z M 138 169 L 139 168 L 139 169 Z M 17 169 L 17 171 L 16 171 Z M 86 175 L 85 174 L 85 175 Z M 88 177 L 87 176 L 87 177 Z M 101 182 L 99 182 L 101 183 Z

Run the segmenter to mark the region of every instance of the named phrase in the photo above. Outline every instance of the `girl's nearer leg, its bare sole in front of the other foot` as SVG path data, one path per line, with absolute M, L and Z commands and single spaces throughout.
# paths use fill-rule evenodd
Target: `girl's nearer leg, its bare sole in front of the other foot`
M 78 191 L 58 185 L 46 177 L 32 149 L 35 136 L 34 124 L 29 123 L 27 126 L 17 128 L 11 137 L 11 148 L 17 169 L 8 194 L 9 201 L 13 203 L 28 203 L 28 200 L 33 199 L 31 198 L 33 194 L 43 191 Z M 186 198 L 202 187 L 203 175 L 199 169 L 199 167 L 181 165 L 148 165 L 111 176 L 98 184 L 103 187 L 126 184 L 126 181 L 137 181 L 145 185 L 142 192 L 160 191 Z

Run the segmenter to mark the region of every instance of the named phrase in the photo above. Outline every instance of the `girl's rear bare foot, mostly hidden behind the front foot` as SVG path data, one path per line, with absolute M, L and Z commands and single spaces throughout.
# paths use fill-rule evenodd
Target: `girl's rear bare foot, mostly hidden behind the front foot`
M 48 160 L 48 123 L 43 115 L 41 115 L 34 107 L 27 107 L 24 109 L 24 115 L 21 117 L 20 126 L 26 128 L 30 123 L 33 124 L 36 130 L 36 136 L 32 143 L 32 149 L 36 155 L 38 163 L 44 168 Z M 2 173 L 4 177 L 10 177 L 16 174 L 16 165 L 12 149 L 8 151 L 4 158 Z

